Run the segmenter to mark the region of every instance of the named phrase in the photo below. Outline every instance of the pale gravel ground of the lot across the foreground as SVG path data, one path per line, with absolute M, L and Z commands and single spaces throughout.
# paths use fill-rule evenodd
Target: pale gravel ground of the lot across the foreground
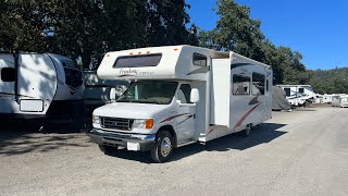
M 104 156 L 86 134 L 1 131 L 0 195 L 348 195 L 348 109 L 273 117 L 250 137 L 175 149 L 162 164 Z

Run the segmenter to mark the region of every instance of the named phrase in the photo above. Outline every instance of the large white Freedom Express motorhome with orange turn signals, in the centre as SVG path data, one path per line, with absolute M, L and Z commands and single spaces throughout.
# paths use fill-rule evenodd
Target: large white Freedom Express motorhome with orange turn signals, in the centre
M 191 46 L 108 52 L 97 74 L 130 81 L 116 102 L 94 111 L 90 137 L 107 155 L 125 147 L 163 162 L 173 148 L 249 135 L 271 119 L 271 68 L 234 52 Z

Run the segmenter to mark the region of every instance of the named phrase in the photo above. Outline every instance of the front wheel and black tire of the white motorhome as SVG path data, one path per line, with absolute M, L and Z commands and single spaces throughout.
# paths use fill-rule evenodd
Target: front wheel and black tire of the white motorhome
M 173 144 L 174 139 L 170 132 L 159 132 L 151 148 L 152 160 L 158 163 L 167 161 L 173 152 Z

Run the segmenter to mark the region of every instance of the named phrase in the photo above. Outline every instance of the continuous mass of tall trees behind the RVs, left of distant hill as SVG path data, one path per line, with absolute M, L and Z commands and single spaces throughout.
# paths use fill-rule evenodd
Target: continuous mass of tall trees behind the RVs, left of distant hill
M 270 64 L 274 84 L 309 82 L 301 53 L 272 44 L 248 7 L 217 0 L 210 30 L 190 23 L 189 8 L 185 0 L 0 0 L 0 49 L 60 53 L 96 69 L 107 51 L 194 45 Z

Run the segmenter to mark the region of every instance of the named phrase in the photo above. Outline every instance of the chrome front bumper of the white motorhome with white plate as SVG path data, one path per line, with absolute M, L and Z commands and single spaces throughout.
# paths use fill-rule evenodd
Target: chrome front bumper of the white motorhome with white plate
M 138 148 L 132 150 L 147 151 L 150 150 L 154 144 L 154 134 L 135 134 L 135 133 L 120 133 L 110 132 L 100 128 L 92 128 L 89 133 L 92 143 L 107 146 L 122 146 L 129 149 L 129 144 L 138 145 Z

